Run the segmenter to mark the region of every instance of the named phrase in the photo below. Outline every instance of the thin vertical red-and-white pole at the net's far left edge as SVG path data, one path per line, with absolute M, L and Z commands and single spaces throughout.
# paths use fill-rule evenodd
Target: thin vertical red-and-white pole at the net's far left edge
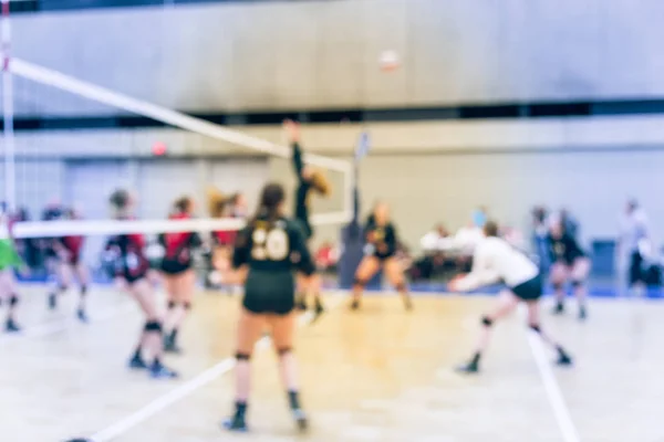
M 11 62 L 11 20 L 9 0 L 0 0 L 2 14 L 2 140 L 4 145 L 4 199 L 8 210 L 15 209 L 15 145 L 13 135 L 13 78 Z

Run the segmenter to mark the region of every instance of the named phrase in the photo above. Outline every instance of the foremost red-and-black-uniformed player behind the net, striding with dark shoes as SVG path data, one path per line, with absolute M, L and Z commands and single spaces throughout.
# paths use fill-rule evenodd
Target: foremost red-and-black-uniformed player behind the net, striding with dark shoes
M 110 202 L 115 209 L 115 219 L 131 220 L 134 198 L 126 190 L 116 190 Z M 153 285 L 147 280 L 149 262 L 145 256 L 145 238 L 142 234 L 118 234 L 108 239 L 106 249 L 115 255 L 115 277 L 120 286 L 126 290 L 145 314 L 145 326 L 134 356 L 129 360 L 133 369 L 149 370 L 153 378 L 175 378 L 177 373 L 162 364 L 163 341 L 162 322 Z M 144 352 L 152 356 L 148 366 Z

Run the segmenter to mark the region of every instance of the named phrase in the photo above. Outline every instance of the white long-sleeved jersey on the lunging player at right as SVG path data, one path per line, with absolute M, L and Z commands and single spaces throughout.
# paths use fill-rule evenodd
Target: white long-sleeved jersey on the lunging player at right
M 501 238 L 485 238 L 473 255 L 473 271 L 458 281 L 460 291 L 471 291 L 500 280 L 516 287 L 539 274 L 537 265 Z

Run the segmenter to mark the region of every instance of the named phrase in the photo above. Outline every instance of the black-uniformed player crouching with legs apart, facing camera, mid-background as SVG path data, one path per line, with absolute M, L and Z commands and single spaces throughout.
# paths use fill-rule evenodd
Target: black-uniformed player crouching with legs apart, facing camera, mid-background
M 402 295 L 406 309 L 412 309 L 413 304 L 406 286 L 404 270 L 396 257 L 398 243 L 396 228 L 390 221 L 387 204 L 383 202 L 376 204 L 364 227 L 364 257 L 355 271 L 351 308 L 360 308 L 360 298 L 362 297 L 364 285 L 383 267 L 387 280 Z

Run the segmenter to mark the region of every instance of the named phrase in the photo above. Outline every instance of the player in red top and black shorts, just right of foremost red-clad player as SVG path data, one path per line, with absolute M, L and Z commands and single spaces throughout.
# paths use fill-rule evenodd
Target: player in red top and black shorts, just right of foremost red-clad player
M 179 198 L 174 203 L 170 220 L 189 220 L 194 212 L 194 200 Z M 162 274 L 168 296 L 168 315 L 165 320 L 164 350 L 179 352 L 177 334 L 191 308 L 191 298 L 196 288 L 194 273 L 194 251 L 201 245 L 200 236 L 195 232 L 173 232 L 159 235 L 165 253 L 162 260 Z

